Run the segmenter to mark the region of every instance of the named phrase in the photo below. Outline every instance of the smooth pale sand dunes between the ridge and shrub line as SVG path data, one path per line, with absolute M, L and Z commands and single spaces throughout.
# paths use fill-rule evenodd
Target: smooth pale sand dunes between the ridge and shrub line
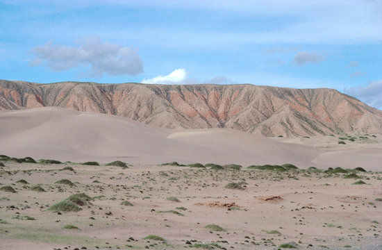
M 314 139 L 312 139 L 314 140 Z M 323 139 L 315 139 L 320 143 Z M 167 130 L 131 119 L 48 107 L 0 111 L 0 153 L 101 163 L 294 163 L 299 167 L 379 169 L 381 143 L 337 147 L 336 141 L 285 143 L 226 128 Z M 324 142 L 322 142 L 324 143 Z M 329 145 L 329 146 L 328 146 Z M 357 146 L 358 145 L 358 146 Z M 356 164 L 354 166 L 353 164 Z

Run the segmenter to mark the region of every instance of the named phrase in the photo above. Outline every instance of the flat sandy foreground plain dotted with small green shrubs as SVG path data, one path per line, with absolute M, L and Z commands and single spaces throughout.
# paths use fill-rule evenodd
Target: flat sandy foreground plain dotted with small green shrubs
M 16 193 L 0 191 L 0 249 L 278 249 L 288 242 L 299 249 L 382 247 L 381 173 L 360 172 L 367 184 L 352 185 L 356 180 L 344 174 L 301 171 L 5 165 L 1 187 Z M 63 178 L 75 185 L 55 184 Z M 224 188 L 231 182 L 243 188 Z M 32 191 L 37 184 L 46 192 Z M 94 201 L 79 212 L 47 210 L 77 192 Z M 67 224 L 78 229 L 63 228 Z M 209 224 L 224 231 L 205 228 Z M 144 240 L 147 235 L 165 242 Z

